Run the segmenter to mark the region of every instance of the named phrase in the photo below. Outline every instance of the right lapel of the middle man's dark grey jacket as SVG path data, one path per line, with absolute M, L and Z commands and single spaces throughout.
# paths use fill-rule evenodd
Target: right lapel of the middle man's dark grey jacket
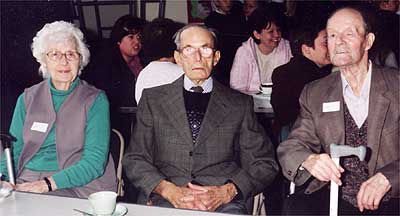
M 226 95 L 218 82 L 213 81 L 213 91 L 208 102 L 207 111 L 201 124 L 199 137 L 196 141 L 196 147 L 205 143 L 208 137 L 216 131 L 216 128 L 226 118 L 230 108 L 227 106 Z

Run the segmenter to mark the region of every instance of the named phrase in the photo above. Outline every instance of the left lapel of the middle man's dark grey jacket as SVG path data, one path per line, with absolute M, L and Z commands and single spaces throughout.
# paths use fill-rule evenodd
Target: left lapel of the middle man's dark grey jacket
M 167 114 L 171 124 L 185 140 L 185 143 L 192 143 L 192 133 L 190 132 L 187 120 L 185 102 L 183 101 L 183 76 L 173 82 L 172 88 L 166 95 L 162 103 L 162 108 Z

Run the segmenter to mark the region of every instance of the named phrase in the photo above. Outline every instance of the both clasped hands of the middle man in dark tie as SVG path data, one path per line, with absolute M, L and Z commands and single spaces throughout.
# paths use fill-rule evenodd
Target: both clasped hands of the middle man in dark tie
M 162 187 L 162 191 L 157 190 Z M 215 211 L 222 204 L 229 203 L 237 191 L 233 183 L 221 186 L 199 186 L 188 183 L 187 186 L 176 186 L 162 181 L 155 190 L 167 199 L 175 208 Z

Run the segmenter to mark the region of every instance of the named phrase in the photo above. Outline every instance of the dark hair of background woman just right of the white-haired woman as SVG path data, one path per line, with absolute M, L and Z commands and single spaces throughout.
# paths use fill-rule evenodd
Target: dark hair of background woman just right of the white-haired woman
M 129 14 L 118 18 L 110 33 L 111 42 L 115 44 L 121 42 L 126 35 L 141 33 L 146 23 L 146 20 Z

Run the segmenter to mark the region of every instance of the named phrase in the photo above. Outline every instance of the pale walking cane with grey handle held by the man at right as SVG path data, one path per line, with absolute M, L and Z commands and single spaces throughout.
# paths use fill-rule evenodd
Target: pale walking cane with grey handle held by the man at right
M 339 167 L 340 157 L 355 155 L 360 161 L 365 159 L 367 149 L 365 146 L 351 147 L 347 145 L 331 144 L 331 158 L 335 162 L 336 166 Z M 339 197 L 339 185 L 334 181 L 331 181 L 331 195 L 329 205 L 329 216 L 337 216 L 338 214 L 338 197 Z

